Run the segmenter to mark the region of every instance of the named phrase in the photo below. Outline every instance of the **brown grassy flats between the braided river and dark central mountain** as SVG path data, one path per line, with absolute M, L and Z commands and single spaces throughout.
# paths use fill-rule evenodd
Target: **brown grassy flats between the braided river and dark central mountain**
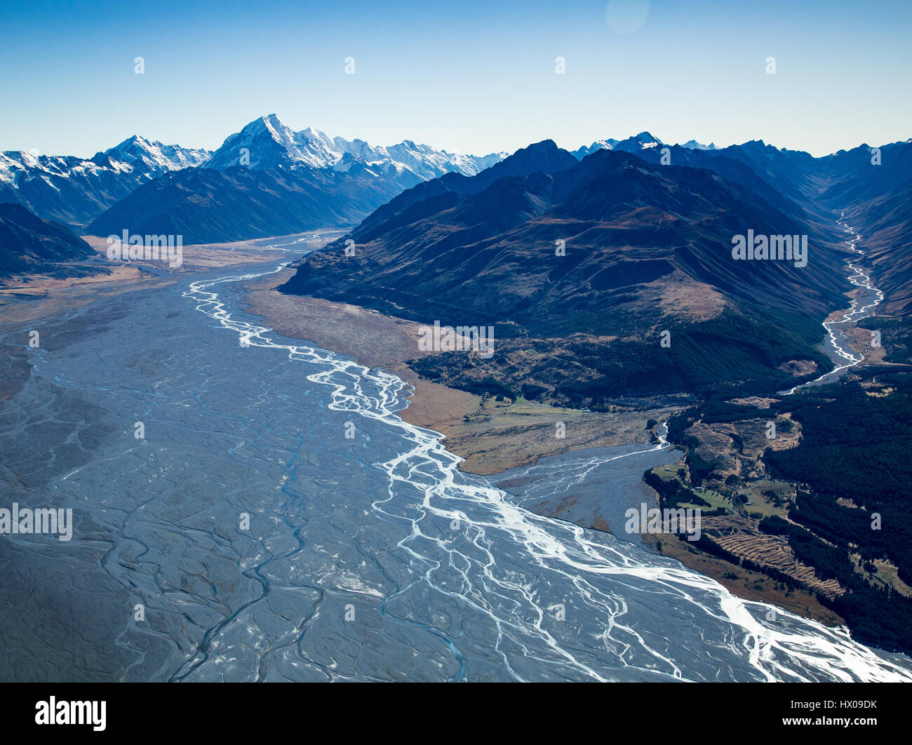
M 276 292 L 275 286 L 293 273 L 286 269 L 246 283 L 244 310 L 264 318 L 265 326 L 283 336 L 312 341 L 405 380 L 414 392 L 400 416 L 409 424 L 440 432 L 447 450 L 463 459 L 461 471 L 488 476 L 574 450 L 646 443 L 648 420 L 666 419 L 679 410 L 595 413 L 523 398 L 482 398 L 431 382 L 408 364 L 429 354 L 418 345 L 419 323 L 356 305 Z

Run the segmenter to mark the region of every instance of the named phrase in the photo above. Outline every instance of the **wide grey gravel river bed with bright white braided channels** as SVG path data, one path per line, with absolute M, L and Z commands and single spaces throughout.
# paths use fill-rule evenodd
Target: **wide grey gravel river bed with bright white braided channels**
M 0 678 L 912 679 L 907 657 L 767 620 L 459 471 L 399 419 L 399 378 L 239 309 L 280 267 L 33 324 L 31 376 L 0 407 L 0 506 L 71 508 L 75 530 L 0 539 Z

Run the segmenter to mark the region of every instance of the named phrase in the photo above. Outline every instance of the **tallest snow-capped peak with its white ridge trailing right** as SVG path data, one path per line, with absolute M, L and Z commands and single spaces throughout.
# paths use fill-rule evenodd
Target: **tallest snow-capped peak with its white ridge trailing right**
M 311 127 L 295 132 L 275 114 L 270 114 L 254 119 L 240 132 L 229 136 L 204 166 L 223 171 L 241 165 L 244 158 L 244 165 L 261 171 L 276 165 L 347 170 L 351 163 L 360 162 L 372 171 L 388 176 L 398 174 L 413 185 L 450 171 L 474 176 L 506 156 L 505 152 L 462 155 L 436 150 L 430 145 L 417 145 L 411 140 L 377 147 L 365 140 L 329 137 Z M 404 171 L 417 178 L 409 179 Z

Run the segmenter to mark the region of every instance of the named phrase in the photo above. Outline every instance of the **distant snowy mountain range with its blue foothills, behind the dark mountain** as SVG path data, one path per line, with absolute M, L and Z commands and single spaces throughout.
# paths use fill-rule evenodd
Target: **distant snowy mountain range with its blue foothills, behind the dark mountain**
M 658 138 L 641 132 L 627 140 L 599 140 L 575 155 L 582 158 L 602 148 L 638 152 L 661 144 Z M 684 147 L 706 146 L 691 141 Z M 39 217 L 64 222 L 80 232 L 139 232 L 140 227 L 148 227 L 152 233 L 167 233 L 178 226 L 185 231 L 186 243 L 235 241 L 310 229 L 315 222 L 308 216 L 315 209 L 326 209 L 327 219 L 339 221 L 334 226 L 353 225 L 399 191 L 449 172 L 477 175 L 506 155 L 463 155 L 411 140 L 389 147 L 372 146 L 365 140 L 329 137 L 318 129 L 294 131 L 270 114 L 228 136 L 214 151 L 163 145 L 138 136 L 89 159 L 6 151 L 0 153 L 0 202 L 22 204 Z M 223 179 L 219 186 L 217 176 L 201 178 L 188 171 L 271 171 L 278 167 L 350 173 L 351 178 L 336 180 L 328 173 L 298 175 L 291 177 L 295 182 L 291 189 L 282 191 L 289 180 L 287 174 L 275 179 L 264 174 L 260 179 L 241 180 L 259 181 L 248 184 L 249 198 L 245 200 L 242 192 L 227 193 L 237 189 L 235 178 Z M 133 196 L 140 187 L 160 178 L 162 184 Z M 333 191 L 336 181 L 340 188 Z M 260 199 L 274 182 L 275 199 Z M 352 188 L 352 182 L 359 186 Z M 194 191 L 200 186 L 202 191 Z M 311 191 L 316 188 L 331 193 Z M 358 199 L 358 191 L 364 192 L 365 199 Z M 184 197 L 180 203 L 174 199 L 178 192 Z M 169 196 L 163 202 L 154 202 L 165 193 Z M 276 202 L 295 202 L 302 195 L 305 203 L 287 209 L 275 206 Z M 242 209 L 252 216 L 231 219 L 228 209 Z

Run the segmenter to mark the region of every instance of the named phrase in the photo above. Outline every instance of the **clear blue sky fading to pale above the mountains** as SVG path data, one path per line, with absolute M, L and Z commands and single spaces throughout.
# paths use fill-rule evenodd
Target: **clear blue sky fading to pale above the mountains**
M 273 112 L 472 153 L 644 129 L 814 155 L 912 136 L 909 0 L 0 2 L 0 150 L 214 149 Z

